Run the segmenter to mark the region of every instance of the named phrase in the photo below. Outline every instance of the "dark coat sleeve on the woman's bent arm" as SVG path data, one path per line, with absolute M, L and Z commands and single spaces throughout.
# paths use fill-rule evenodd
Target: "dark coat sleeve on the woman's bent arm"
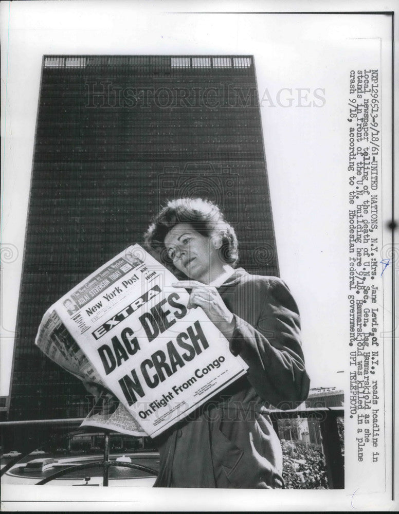
M 310 386 L 298 307 L 280 279 L 258 280 L 249 290 L 247 300 L 258 310 L 258 321 L 252 326 L 234 314 L 230 350 L 248 364 L 248 380 L 262 399 L 278 409 L 294 409 L 307 398 Z M 257 299 L 251 301 L 255 293 Z

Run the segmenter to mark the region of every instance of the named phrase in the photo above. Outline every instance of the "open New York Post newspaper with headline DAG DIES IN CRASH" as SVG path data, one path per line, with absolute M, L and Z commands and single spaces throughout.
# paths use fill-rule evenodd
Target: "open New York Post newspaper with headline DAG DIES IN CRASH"
M 246 373 L 176 280 L 133 245 L 47 310 L 35 344 L 104 391 L 82 425 L 155 437 Z

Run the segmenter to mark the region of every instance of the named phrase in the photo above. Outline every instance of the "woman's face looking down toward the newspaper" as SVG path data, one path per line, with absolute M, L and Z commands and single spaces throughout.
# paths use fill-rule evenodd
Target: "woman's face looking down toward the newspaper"
M 174 266 L 198 282 L 209 283 L 212 270 L 223 266 L 212 238 L 199 234 L 189 223 L 173 227 L 164 244 Z

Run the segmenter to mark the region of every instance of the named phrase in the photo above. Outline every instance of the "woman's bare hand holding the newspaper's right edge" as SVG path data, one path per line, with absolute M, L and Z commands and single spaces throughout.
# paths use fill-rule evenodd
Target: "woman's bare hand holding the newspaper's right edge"
M 216 287 L 202 284 L 196 280 L 180 280 L 172 285 L 191 289 L 187 308 L 201 307 L 222 334 L 227 339 L 231 338 L 234 331 L 233 314 L 226 307 Z

